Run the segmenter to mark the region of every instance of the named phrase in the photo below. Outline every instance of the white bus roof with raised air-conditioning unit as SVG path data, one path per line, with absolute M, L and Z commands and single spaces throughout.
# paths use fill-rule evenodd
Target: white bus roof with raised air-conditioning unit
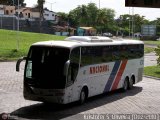
M 74 48 L 77 46 L 104 46 L 104 45 L 130 45 L 130 44 L 144 44 L 139 40 L 130 40 L 122 38 L 109 38 L 101 36 L 71 36 L 65 40 L 51 40 L 34 43 L 33 46 L 57 46 Z

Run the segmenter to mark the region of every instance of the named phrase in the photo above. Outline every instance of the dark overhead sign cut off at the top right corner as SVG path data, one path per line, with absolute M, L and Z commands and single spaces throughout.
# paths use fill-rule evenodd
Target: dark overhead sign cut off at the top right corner
M 125 0 L 125 6 L 160 8 L 160 0 Z

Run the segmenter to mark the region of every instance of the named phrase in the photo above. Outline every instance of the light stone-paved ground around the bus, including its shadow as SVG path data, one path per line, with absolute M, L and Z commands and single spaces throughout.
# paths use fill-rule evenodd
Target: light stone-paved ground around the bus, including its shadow
M 45 105 L 23 99 L 23 70 L 15 72 L 15 64 L 0 62 L 0 113 L 10 113 L 12 118 L 83 120 L 92 114 L 101 114 L 103 119 L 103 115 L 107 114 L 160 113 L 160 80 L 144 77 L 142 82 L 126 93 L 116 91 L 96 96 L 82 106 L 76 103 L 65 106 Z

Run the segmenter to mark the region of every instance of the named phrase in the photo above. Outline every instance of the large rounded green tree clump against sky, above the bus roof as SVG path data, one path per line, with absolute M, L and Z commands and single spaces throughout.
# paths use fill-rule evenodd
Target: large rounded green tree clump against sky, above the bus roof
M 114 30 L 115 11 L 112 9 L 98 9 L 95 3 L 81 5 L 69 12 L 71 26 L 92 26 L 99 32 Z

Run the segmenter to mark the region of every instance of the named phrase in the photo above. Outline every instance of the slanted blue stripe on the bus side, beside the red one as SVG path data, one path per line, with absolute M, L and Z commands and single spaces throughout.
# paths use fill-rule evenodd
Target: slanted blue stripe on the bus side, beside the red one
M 110 91 L 110 88 L 112 87 L 112 83 L 113 83 L 113 81 L 114 81 L 114 79 L 115 79 L 115 76 L 116 76 L 116 74 L 117 74 L 117 71 L 118 71 L 118 68 L 119 68 L 119 66 L 120 66 L 120 63 L 121 63 L 121 61 L 116 61 L 116 62 L 115 62 L 114 67 L 113 67 L 113 69 L 112 69 L 112 72 L 111 72 L 111 74 L 110 74 L 110 76 L 109 76 L 109 79 L 108 79 L 108 81 L 107 81 L 107 83 L 106 83 L 104 92 Z

